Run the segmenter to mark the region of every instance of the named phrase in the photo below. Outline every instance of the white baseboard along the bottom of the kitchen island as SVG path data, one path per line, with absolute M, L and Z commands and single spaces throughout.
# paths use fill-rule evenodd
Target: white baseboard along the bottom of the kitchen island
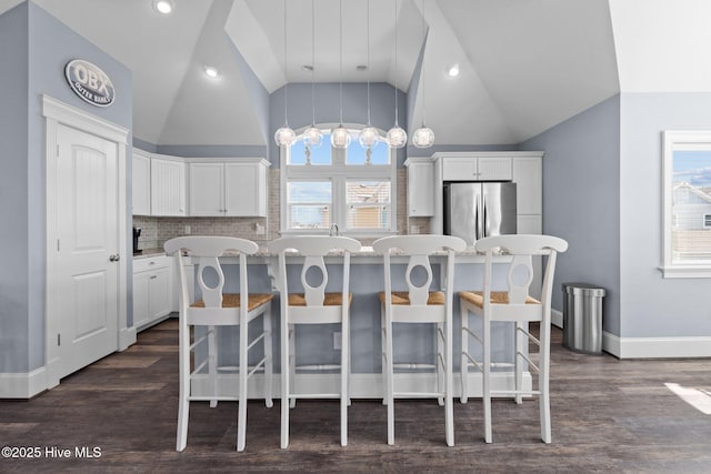
M 351 374 L 350 379 L 351 399 L 382 399 L 382 375 L 381 374 Z M 482 384 L 481 373 L 469 373 L 469 396 L 481 397 Z M 512 390 L 513 373 L 492 373 L 491 390 Z M 264 375 L 254 374 L 249 380 L 248 396 L 250 399 L 263 399 Z M 398 392 L 432 392 L 434 391 L 434 376 L 432 374 L 395 374 L 394 384 Z M 531 374 L 523 374 L 523 390 L 531 390 Z M 340 387 L 340 375 L 329 374 L 298 374 L 294 383 L 296 393 L 338 393 Z M 234 395 L 238 392 L 238 381 L 236 374 L 218 375 L 218 395 Z M 197 396 L 208 396 L 211 393 L 210 383 L 206 375 L 198 375 L 192 381 L 192 392 Z M 272 397 L 278 399 L 281 392 L 281 379 L 279 374 L 272 376 Z M 454 374 L 454 397 L 461 395 L 461 379 Z

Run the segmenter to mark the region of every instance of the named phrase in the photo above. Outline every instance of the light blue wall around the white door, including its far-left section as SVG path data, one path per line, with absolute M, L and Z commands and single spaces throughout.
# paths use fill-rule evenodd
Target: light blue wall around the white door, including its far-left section
M 0 91 L 0 97 L 3 98 L 2 120 L 11 118 L 23 122 L 10 125 L 7 130 L 3 127 L 0 131 L 3 134 L 3 149 L 11 151 L 3 155 L 1 201 L 12 203 L 11 210 L 1 208 L 4 204 L 0 204 L 0 212 L 3 228 L 8 222 L 13 224 L 8 229 L 12 233 L 8 240 L 3 239 L 3 246 L 11 260 L 17 259 L 13 262 L 17 265 L 3 265 L 0 281 L 10 281 L 11 291 L 18 290 L 8 301 L 14 302 L 8 313 L 4 313 L 4 292 L 8 290 L 4 285 L 0 290 L 3 300 L 2 334 L 3 337 L 8 334 L 12 341 L 7 353 L 4 344 L 0 350 L 3 361 L 0 370 L 23 373 L 44 365 L 47 198 L 42 94 L 130 130 L 131 72 L 34 3 L 26 2 L 6 12 L 0 17 L 0 27 L 2 44 L 12 44 L 12 48 L 2 48 L 0 52 L 0 78 L 3 78 Z M 4 41 L 6 38 L 9 42 Z M 63 69 L 69 60 L 76 58 L 96 63 L 111 77 L 117 89 L 117 102 L 113 105 L 96 108 L 71 92 L 64 80 Z M 10 78 L 7 77 L 8 72 L 12 73 Z M 12 134 L 8 133 L 10 131 Z M 131 175 L 130 161 L 127 172 Z M 13 183 L 6 183 L 8 174 L 12 177 Z M 131 209 L 130 195 L 130 184 L 127 184 L 127 209 Z M 130 216 L 127 218 L 127 223 L 130 223 Z M 123 250 L 126 255 L 131 254 L 129 233 L 130 229 L 127 232 L 128 246 Z M 128 278 L 129 289 L 131 281 Z M 6 320 L 9 322 L 7 325 Z

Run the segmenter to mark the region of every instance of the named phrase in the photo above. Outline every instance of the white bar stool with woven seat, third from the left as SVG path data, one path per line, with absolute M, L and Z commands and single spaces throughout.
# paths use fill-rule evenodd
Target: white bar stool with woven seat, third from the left
M 384 403 L 388 405 L 388 444 L 394 444 L 394 399 L 437 397 L 444 404 L 445 441 L 454 445 L 452 406 L 452 292 L 454 279 L 454 252 L 462 251 L 465 242 L 450 235 L 401 235 L 387 236 L 373 243 L 373 250 L 383 254 L 384 291 L 380 293 L 382 324 L 382 355 L 384 379 Z M 443 251 L 445 264 L 440 275 L 444 291 L 430 291 L 432 266 L 430 255 Z M 404 282 L 393 278 L 392 254 L 405 255 L 408 265 Z M 413 281 L 417 269 L 423 269 L 425 281 Z M 419 284 L 421 283 L 421 284 Z M 395 291 L 407 286 L 408 291 Z M 431 364 L 395 363 L 393 360 L 393 324 L 432 323 L 435 325 L 435 360 Z M 395 392 L 394 369 L 434 369 L 437 389 L 432 392 Z M 443 379 L 443 380 L 442 380 Z

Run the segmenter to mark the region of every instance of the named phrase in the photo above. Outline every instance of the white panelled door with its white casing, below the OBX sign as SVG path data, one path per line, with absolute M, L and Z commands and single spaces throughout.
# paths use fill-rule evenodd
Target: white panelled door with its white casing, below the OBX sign
M 43 113 L 49 389 L 136 333 L 127 329 L 128 131 L 48 97 Z

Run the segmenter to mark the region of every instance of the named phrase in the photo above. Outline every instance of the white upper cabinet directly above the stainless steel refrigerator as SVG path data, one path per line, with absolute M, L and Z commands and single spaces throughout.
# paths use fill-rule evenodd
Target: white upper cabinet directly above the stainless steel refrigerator
M 442 181 L 511 181 L 510 155 L 435 153 L 442 158 Z

